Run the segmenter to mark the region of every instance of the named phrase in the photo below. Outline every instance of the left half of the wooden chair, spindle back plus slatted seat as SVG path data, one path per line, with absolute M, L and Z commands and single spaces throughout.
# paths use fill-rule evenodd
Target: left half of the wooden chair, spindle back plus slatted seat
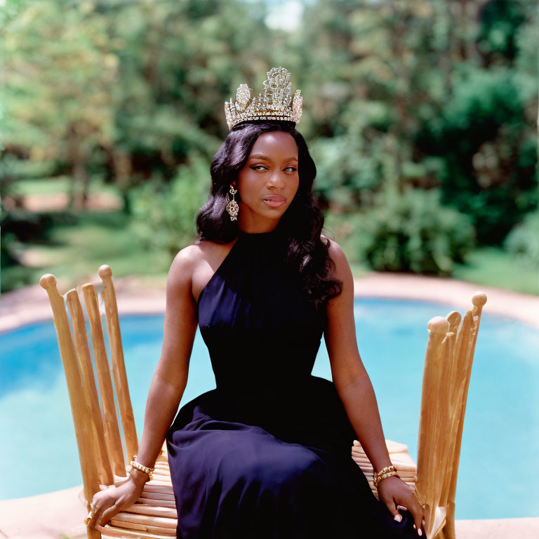
M 46 274 L 39 284 L 48 293 L 53 310 L 53 320 L 58 336 L 60 356 L 64 366 L 67 390 L 73 415 L 76 443 L 79 448 L 84 489 L 79 498 L 90 511 L 93 495 L 126 481 L 130 466 L 138 451 L 133 409 L 129 397 L 124 352 L 118 319 L 116 293 L 109 266 L 99 268 L 102 284 L 81 286 L 91 328 L 95 370 L 98 375 L 101 399 L 95 384 L 94 371 L 86 337 L 84 313 L 76 288 L 65 294 L 65 303 L 72 321 L 72 332 L 65 310 L 64 298 L 56 288 L 56 278 Z M 98 293 L 107 319 L 107 334 L 111 355 L 114 388 L 120 412 L 123 439 L 119 430 L 114 390 L 110 377 L 109 361 L 101 325 Z M 122 447 L 126 447 L 126 453 Z M 172 490 L 166 443 L 155 463 L 154 478 L 148 481 L 141 497 L 126 511 L 117 514 L 106 526 L 98 530 L 86 528 L 90 539 L 103 537 L 170 539 L 175 537 L 177 514 Z

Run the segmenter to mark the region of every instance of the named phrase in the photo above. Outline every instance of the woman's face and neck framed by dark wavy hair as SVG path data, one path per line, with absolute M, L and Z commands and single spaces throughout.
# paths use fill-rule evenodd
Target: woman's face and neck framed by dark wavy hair
M 285 131 L 262 133 L 238 173 L 238 225 L 247 232 L 277 226 L 300 185 L 298 145 Z

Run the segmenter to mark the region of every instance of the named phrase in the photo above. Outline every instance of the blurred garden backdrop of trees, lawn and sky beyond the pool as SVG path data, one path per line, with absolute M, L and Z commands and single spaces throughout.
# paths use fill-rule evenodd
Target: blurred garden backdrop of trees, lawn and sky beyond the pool
M 282 65 L 354 273 L 539 293 L 533 0 L 6 0 L 1 290 L 159 278 L 194 241 L 223 102 Z M 69 262 L 74 259 L 76 263 Z

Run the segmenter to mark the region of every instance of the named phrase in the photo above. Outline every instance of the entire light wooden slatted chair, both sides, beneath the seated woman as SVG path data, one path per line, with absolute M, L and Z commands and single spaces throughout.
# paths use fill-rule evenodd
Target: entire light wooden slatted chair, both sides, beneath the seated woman
M 101 399 L 95 383 L 79 293 L 72 288 L 65 294 L 64 302 L 53 274 L 46 274 L 39 280 L 48 293 L 53 310 L 84 484 L 79 498 L 88 512 L 90 500 L 96 492 L 126 481 L 130 470 L 128 463 L 138 451 L 112 270 L 102 265 L 98 273 L 102 283 L 84 284 L 81 291 L 91 329 Z M 486 295 L 477 293 L 472 302 L 474 307 L 465 314 L 462 324 L 461 316 L 456 311 L 450 312 L 446 318 L 434 317 L 427 324 L 429 338 L 423 371 L 417 467 L 405 444 L 386 440 L 390 459 L 400 477 L 415 488 L 420 503 L 425 505 L 427 539 L 455 539 L 454 500 L 460 441 L 474 347 Z M 65 303 L 72 321 L 72 331 Z M 100 305 L 104 307 L 107 322 L 123 437 L 114 404 Z M 373 493 L 378 495 L 372 482 L 373 467 L 357 441 L 352 446 L 352 458 L 366 474 Z M 164 443 L 155 464 L 154 479 L 145 484 L 137 502 L 119 512 L 109 524 L 98 526 L 97 530 L 87 528 L 86 533 L 90 539 L 101 536 L 168 539 L 175 537 L 177 518 Z

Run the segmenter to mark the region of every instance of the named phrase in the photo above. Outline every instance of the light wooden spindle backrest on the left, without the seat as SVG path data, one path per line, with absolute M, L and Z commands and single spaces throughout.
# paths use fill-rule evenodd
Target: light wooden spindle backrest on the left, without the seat
M 76 288 L 72 288 L 62 297 L 56 288 L 56 278 L 53 274 L 46 274 L 39 279 L 39 284 L 46 290 L 53 310 L 53 320 L 67 381 L 88 510 L 90 510 L 89 503 L 93 495 L 100 491 L 100 484 L 111 485 L 116 479 L 126 477 L 126 466 L 138 452 L 138 438 L 129 397 L 116 293 L 114 284 L 112 284 L 112 270 L 109 266 L 102 265 L 98 273 L 102 284 L 99 283 L 95 286 L 94 284 L 84 284 L 81 286 L 81 291 L 84 295 L 91 329 L 95 371 L 98 375 L 101 399 L 98 397 L 94 378 L 86 322 L 79 293 Z M 100 289 L 107 319 L 114 387 L 102 331 L 98 293 L 96 293 L 95 288 Z M 72 331 L 69 327 L 65 305 L 69 310 Z M 124 455 L 114 403 L 114 390 L 124 433 L 126 455 Z

